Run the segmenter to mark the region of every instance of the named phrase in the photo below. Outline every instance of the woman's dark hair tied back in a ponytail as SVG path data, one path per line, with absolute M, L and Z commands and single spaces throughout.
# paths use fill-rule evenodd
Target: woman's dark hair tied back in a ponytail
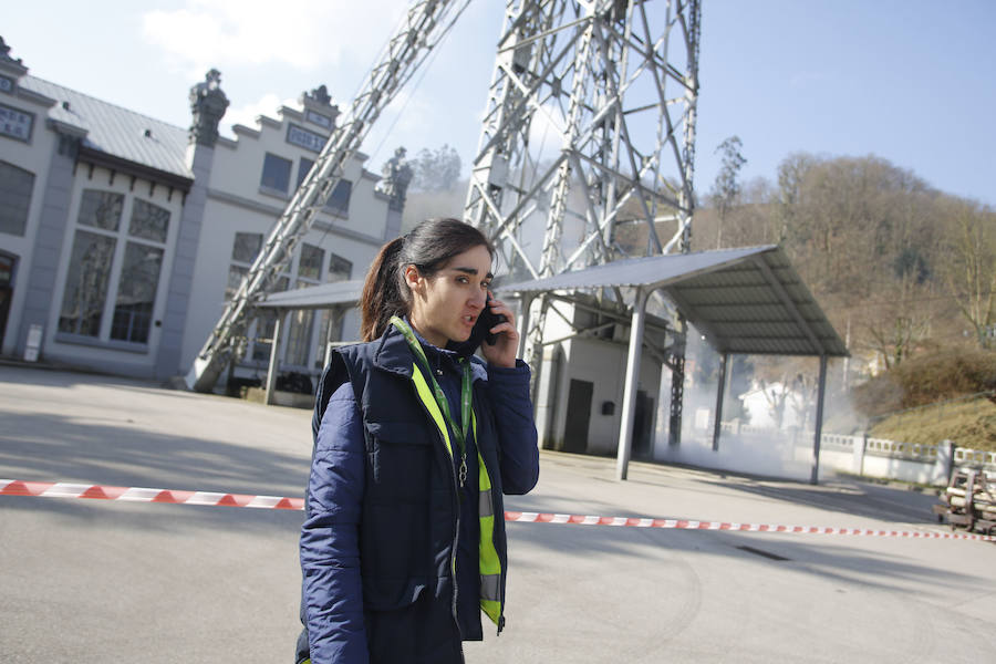
M 485 247 L 491 259 L 495 247 L 474 226 L 459 219 L 427 219 L 401 238 L 391 240 L 370 266 L 360 311 L 363 341 L 373 341 L 384 333 L 392 315 L 407 315 L 412 309 L 412 293 L 405 283 L 405 268 L 415 266 L 424 277 L 432 277 L 458 253 L 474 247 Z

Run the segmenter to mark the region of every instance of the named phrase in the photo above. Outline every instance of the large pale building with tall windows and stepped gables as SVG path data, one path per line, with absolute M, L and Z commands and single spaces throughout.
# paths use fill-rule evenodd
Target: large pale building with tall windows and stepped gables
M 146 117 L 30 75 L 0 39 L 0 353 L 142 378 L 189 370 L 339 115 L 320 86 L 230 139 L 217 71 L 189 100 L 189 127 Z M 362 278 L 398 235 L 404 186 L 366 160 L 345 165 L 280 289 Z M 284 371 L 320 371 L 329 324 L 294 314 Z M 357 313 L 341 324 L 333 335 L 355 338 Z M 250 325 L 236 375 L 266 374 L 272 326 Z

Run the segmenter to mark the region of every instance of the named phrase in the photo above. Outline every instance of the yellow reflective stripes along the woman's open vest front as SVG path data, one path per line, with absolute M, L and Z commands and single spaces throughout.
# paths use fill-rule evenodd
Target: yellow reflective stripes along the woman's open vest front
M 439 433 L 443 434 L 446 453 L 449 455 L 450 464 L 453 464 L 453 446 L 449 443 L 449 432 L 446 429 L 443 412 L 439 409 L 439 404 L 436 403 L 432 390 L 429 390 L 428 383 L 418 370 L 417 364 L 412 365 L 412 382 L 415 383 L 418 398 L 422 400 L 433 422 L 436 423 Z M 470 409 L 470 428 L 474 432 L 474 440 L 477 442 L 477 415 L 473 408 Z M 491 478 L 488 476 L 488 469 L 485 466 L 484 458 L 480 456 L 479 445 L 477 446 L 477 488 L 479 491 L 477 520 L 480 533 L 478 542 L 480 609 L 497 625 L 501 618 L 501 561 L 498 559 L 497 549 L 495 549 L 495 507 L 494 497 L 491 496 Z M 455 554 L 454 561 L 456 561 Z

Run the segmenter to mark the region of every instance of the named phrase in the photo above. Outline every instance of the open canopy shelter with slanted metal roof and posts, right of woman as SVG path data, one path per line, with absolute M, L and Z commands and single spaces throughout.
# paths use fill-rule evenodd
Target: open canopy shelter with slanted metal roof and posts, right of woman
M 848 355 L 844 343 L 777 246 L 720 249 L 613 261 L 547 279 L 502 284 L 522 300 L 520 330 L 529 329 L 529 303 L 541 293 L 569 298 L 579 290 L 634 289 L 623 392 L 616 476 L 626 478 L 647 299 L 663 291 L 722 354 L 713 448 L 717 449 L 723 391 L 730 353 L 815 355 L 820 359 L 811 480 L 819 475 L 827 359 Z M 525 340 L 525 334 L 520 338 Z M 520 349 L 521 351 L 522 349 Z

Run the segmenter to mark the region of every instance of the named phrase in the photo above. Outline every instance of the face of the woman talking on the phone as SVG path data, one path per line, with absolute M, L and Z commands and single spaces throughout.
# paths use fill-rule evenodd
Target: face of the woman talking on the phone
M 454 256 L 428 278 L 408 266 L 405 281 L 412 289 L 412 324 L 439 347 L 450 340 L 467 341 L 484 310 L 491 277 L 491 255 L 480 245 Z

